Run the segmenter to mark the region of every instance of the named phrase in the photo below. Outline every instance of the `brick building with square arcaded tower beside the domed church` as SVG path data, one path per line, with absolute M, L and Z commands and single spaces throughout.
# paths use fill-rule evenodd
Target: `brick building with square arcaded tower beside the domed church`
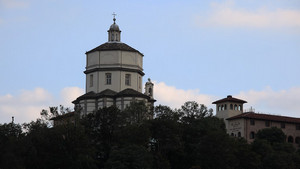
M 287 142 L 300 144 L 300 118 L 255 113 L 251 109 L 244 112 L 244 103 L 247 102 L 232 96 L 213 102 L 216 116 L 224 119 L 229 135 L 243 137 L 250 143 L 259 130 L 277 127 L 287 136 Z

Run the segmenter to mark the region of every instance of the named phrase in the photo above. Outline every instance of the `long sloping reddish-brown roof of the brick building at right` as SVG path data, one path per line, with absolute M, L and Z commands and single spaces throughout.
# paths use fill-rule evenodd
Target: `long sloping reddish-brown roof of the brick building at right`
M 300 118 L 270 115 L 270 114 L 259 114 L 253 112 L 242 113 L 237 116 L 230 117 L 227 120 L 234 120 L 240 118 L 268 120 L 268 121 L 277 121 L 277 122 L 286 122 L 286 123 L 300 123 Z

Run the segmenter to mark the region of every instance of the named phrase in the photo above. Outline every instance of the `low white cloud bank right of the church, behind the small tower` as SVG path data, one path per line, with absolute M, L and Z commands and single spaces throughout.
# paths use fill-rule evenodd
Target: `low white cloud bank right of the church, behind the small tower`
M 206 95 L 201 94 L 198 89 L 183 90 L 168 86 L 164 82 L 155 82 L 154 97 L 157 105 L 180 108 L 186 101 L 196 101 L 215 110 L 215 105 L 211 103 L 226 96 Z M 266 87 L 261 91 L 242 91 L 233 97 L 247 101 L 248 103 L 244 105 L 245 109 L 252 107 L 260 113 L 300 117 L 300 87 L 280 91 Z

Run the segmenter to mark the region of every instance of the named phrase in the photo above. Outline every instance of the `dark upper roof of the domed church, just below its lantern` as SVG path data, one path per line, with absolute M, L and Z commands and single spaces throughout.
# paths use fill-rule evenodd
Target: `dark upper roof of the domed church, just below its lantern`
M 87 51 L 85 54 L 91 53 L 91 52 L 95 52 L 95 51 L 111 51 L 111 50 L 122 50 L 122 51 L 130 51 L 130 52 L 138 52 L 139 54 L 141 54 L 142 56 L 144 56 L 141 52 L 139 52 L 138 50 L 130 47 L 129 45 L 127 45 L 126 43 L 122 43 L 122 42 L 106 42 L 103 43 L 102 45 Z

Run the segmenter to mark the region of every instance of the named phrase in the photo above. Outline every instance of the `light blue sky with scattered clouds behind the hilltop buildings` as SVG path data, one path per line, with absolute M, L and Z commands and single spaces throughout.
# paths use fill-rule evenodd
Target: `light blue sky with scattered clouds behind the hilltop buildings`
M 121 41 L 144 54 L 156 105 L 232 95 L 300 117 L 299 0 L 0 0 L 0 123 L 30 122 L 85 92 L 86 56 Z

